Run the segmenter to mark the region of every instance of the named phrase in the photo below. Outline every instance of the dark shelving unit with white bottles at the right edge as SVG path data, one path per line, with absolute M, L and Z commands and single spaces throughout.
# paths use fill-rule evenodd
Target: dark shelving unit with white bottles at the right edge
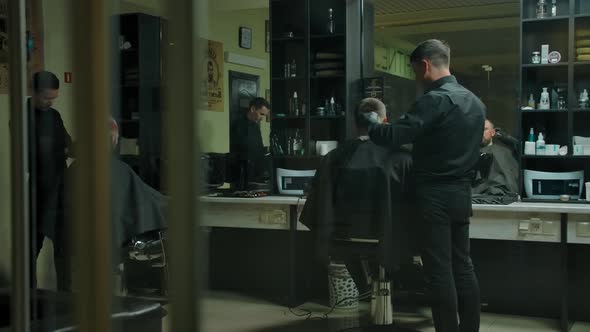
M 585 171 L 585 181 L 590 180 L 590 156 L 573 155 L 573 136 L 590 137 L 590 109 L 581 109 L 578 104 L 579 93 L 583 89 L 590 92 L 590 61 L 576 58 L 576 41 L 582 30 L 588 30 L 590 40 L 590 1 L 558 1 L 556 17 L 536 18 L 537 0 L 521 1 L 521 106 L 528 104 L 530 94 L 539 102 L 543 87 L 562 89 L 560 94 L 567 101 L 563 110 L 518 110 L 521 137 L 526 139 L 530 128 L 545 136 L 546 144 L 559 144 L 568 147 L 567 156 L 523 155 L 519 160 L 521 167 L 521 196 L 524 192 L 524 170 L 546 172 Z M 549 2 L 549 6 L 550 6 Z M 590 43 L 590 42 L 589 42 Z M 549 51 L 560 52 L 562 58 L 557 64 L 533 64 L 531 54 L 541 51 L 542 44 L 549 44 Z M 590 47 L 590 44 L 587 46 Z M 582 191 L 582 193 L 584 190 Z

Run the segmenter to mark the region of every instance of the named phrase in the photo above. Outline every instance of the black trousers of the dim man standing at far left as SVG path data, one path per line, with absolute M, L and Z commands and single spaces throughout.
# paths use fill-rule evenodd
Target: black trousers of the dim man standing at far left
M 37 288 L 37 258 L 43 247 L 45 235 L 34 233 L 35 238 L 31 239 L 31 288 Z M 63 241 L 53 241 L 53 260 L 55 264 L 55 274 L 57 278 L 57 289 L 60 291 L 70 291 L 72 285 L 71 278 L 71 257 L 66 250 Z

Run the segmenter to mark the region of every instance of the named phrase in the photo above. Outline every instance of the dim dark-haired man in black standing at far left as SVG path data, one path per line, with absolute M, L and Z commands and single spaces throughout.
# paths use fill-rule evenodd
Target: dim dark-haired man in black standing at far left
M 53 240 L 59 290 L 70 288 L 69 239 L 63 224 L 64 172 L 72 139 L 61 116 L 52 108 L 59 95 L 59 79 L 50 72 L 33 75 L 29 105 L 29 155 L 31 170 L 31 283 L 36 285 L 36 260 L 43 240 Z

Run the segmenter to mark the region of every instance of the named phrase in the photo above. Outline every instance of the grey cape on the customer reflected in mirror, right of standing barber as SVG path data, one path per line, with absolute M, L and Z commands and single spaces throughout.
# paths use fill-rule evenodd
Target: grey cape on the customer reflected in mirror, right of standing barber
M 473 194 L 513 195 L 518 193 L 518 163 L 510 149 L 494 143 L 481 149 L 493 156 L 487 180 L 472 189 Z

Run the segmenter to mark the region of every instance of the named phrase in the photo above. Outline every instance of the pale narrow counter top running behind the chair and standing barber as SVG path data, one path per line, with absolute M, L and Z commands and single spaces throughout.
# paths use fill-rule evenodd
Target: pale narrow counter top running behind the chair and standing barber
M 259 204 L 259 205 L 303 205 L 305 198 L 296 196 L 266 196 L 258 198 L 201 197 L 204 203 Z M 580 203 L 536 203 L 515 202 L 509 205 L 473 204 L 474 211 L 544 212 L 590 214 L 590 204 Z

